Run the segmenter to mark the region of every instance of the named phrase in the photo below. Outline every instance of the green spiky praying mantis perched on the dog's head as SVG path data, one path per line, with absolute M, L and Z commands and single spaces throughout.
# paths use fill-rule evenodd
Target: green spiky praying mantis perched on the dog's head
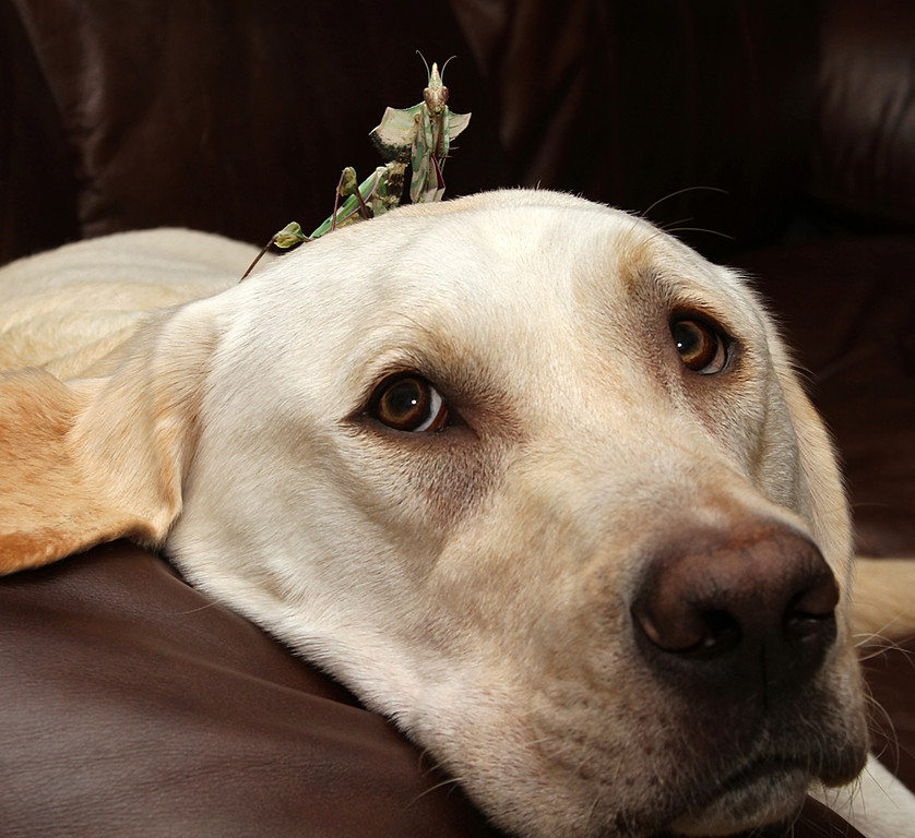
M 423 58 L 421 52 L 418 55 Z M 430 70 L 425 58 L 423 63 L 428 75 L 423 101 L 412 108 L 385 108 L 381 123 L 369 134 L 388 163 L 377 167 L 361 183 L 356 178 L 356 170 L 347 166 L 340 176 L 333 212 L 308 236 L 298 222 L 287 224 L 263 247 L 241 280 L 248 277 L 271 247 L 288 252 L 337 227 L 393 210 L 401 203 L 407 164 L 412 169 L 409 200 L 415 204 L 441 201 L 444 194 L 442 169 L 451 141 L 470 124 L 471 115 L 454 113 L 449 109 L 448 87 L 442 82 L 438 65 L 433 62 Z M 448 61 L 442 64 L 442 73 Z

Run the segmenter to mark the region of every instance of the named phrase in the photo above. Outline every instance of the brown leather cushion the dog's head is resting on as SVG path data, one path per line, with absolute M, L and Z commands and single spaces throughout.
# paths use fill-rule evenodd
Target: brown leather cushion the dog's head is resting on
M 496 838 L 381 717 L 127 542 L 0 580 L 8 838 Z M 857 835 L 809 803 L 795 838 Z

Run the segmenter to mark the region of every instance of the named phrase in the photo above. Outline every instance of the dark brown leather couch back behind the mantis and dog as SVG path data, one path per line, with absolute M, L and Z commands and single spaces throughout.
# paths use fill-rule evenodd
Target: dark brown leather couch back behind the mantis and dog
M 682 236 L 713 256 L 811 217 L 915 227 L 913 41 L 906 0 L 2 0 L 0 261 L 319 222 L 419 99 L 416 49 L 456 56 L 474 113 L 452 195 L 569 190 L 708 229 Z

